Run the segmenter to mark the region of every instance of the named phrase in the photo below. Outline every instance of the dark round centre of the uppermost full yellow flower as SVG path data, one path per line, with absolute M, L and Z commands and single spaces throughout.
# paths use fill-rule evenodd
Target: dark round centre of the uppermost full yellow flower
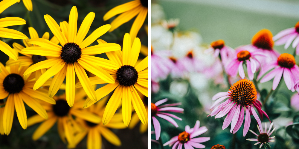
M 79 58 L 81 58 L 81 54 L 81 48 L 76 43 L 68 42 L 62 46 L 60 56 L 65 63 L 74 64 Z

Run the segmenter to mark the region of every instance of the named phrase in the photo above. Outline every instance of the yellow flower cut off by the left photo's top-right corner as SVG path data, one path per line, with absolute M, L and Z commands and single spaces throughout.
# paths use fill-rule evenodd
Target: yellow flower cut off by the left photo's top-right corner
M 109 32 L 112 32 L 120 25 L 130 21 L 132 18 L 134 18 L 137 15 L 129 33 L 131 35 L 131 39 L 133 42 L 135 37 L 137 36 L 138 31 L 142 27 L 145 18 L 147 17 L 147 9 L 148 9 L 147 6 L 148 6 L 147 0 L 134 0 L 116 6 L 111 10 L 109 10 L 103 17 L 104 21 L 107 21 L 113 16 L 121 13 L 120 15 L 118 15 L 118 17 L 116 17 L 111 22 L 112 27 L 110 28 Z

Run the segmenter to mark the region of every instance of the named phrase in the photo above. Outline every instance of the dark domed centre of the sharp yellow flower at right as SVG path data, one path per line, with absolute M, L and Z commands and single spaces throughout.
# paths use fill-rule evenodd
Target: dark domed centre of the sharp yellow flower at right
M 120 85 L 132 86 L 138 80 L 138 72 L 133 66 L 123 65 L 116 72 L 116 80 Z

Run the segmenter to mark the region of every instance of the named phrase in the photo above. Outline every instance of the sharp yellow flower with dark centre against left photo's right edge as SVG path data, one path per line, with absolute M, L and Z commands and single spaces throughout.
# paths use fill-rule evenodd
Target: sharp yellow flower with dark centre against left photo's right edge
M 98 42 L 99 45 L 101 45 L 100 42 L 105 43 L 103 40 Z M 111 120 L 120 101 L 122 101 L 123 122 L 126 126 L 129 125 L 131 120 L 132 104 L 141 122 L 147 124 L 147 111 L 136 89 L 148 97 L 148 70 L 146 69 L 148 67 L 148 57 L 144 58 L 135 66 L 141 47 L 139 38 L 135 38 L 132 47 L 131 45 L 130 35 L 126 33 L 123 38 L 123 51 L 106 52 L 108 58 L 118 64 L 118 69 L 107 70 L 107 72 L 109 72 L 115 79 L 115 83 L 109 83 L 95 91 L 97 99 L 100 100 L 115 89 L 112 97 L 107 103 L 103 115 L 104 125 L 108 124 Z M 91 81 L 91 84 L 107 83 L 99 77 L 90 77 L 89 80 Z M 81 83 L 76 84 L 76 87 L 81 86 Z M 87 98 L 84 103 L 84 108 L 89 107 L 95 102 L 97 102 L 97 100 Z

